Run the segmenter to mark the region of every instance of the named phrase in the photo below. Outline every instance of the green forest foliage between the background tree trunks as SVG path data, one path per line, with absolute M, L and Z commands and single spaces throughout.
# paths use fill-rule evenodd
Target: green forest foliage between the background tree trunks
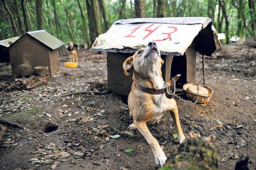
M 15 8 L 13 7 L 12 1 L 5 0 L 20 32 L 20 28 L 18 26 L 18 19 L 15 13 Z M 56 11 L 59 17 L 58 21 L 60 23 L 59 36 L 57 35 L 57 27 L 55 23 L 55 15 L 53 8 L 53 0 L 43 1 L 43 11 L 44 11 L 44 24 L 45 30 L 50 32 L 59 39 L 63 40 L 65 44 L 67 42 L 76 40 L 76 44 L 83 44 L 84 36 L 89 35 L 89 29 L 87 29 L 87 34 L 83 33 L 83 27 L 88 28 L 88 16 L 86 9 L 86 0 L 79 0 L 82 9 L 84 18 L 86 23 L 84 24 L 81 18 L 80 9 L 78 6 L 77 0 L 55 0 Z M 153 0 L 144 0 L 144 9 L 145 16 L 147 18 L 154 17 L 154 1 Z M 252 9 L 249 8 L 248 1 L 244 1 L 243 14 L 244 19 L 238 18 L 238 11 L 232 4 L 231 0 L 222 0 L 225 2 L 225 9 L 228 15 L 229 20 L 229 37 L 238 36 L 240 34 L 242 37 L 252 36 L 253 31 L 251 27 L 251 23 L 255 20 L 255 13 L 252 12 Z M 108 16 L 109 23 L 112 24 L 114 21 L 119 19 L 120 9 L 122 7 L 122 3 L 120 0 L 104 0 L 106 6 L 106 15 Z M 165 1 L 166 7 L 166 15 L 167 17 L 185 17 L 185 16 L 206 16 L 210 17 L 213 20 L 213 24 L 218 32 L 225 32 L 225 19 L 223 19 L 222 24 L 218 23 L 218 13 L 220 14 L 219 20 L 223 15 L 222 10 L 219 11 L 219 3 L 215 0 L 196 0 L 196 1 L 188 1 L 188 0 L 177 0 L 177 1 Z M 237 2 L 236 2 L 237 3 Z M 21 36 L 15 35 L 12 29 L 12 24 L 10 22 L 10 17 L 8 13 L 5 11 L 3 7 L 3 3 L 0 2 L 0 40 L 10 38 L 13 36 Z M 208 5 L 209 4 L 209 5 Z M 236 4 L 239 5 L 239 4 Z M 21 1 L 18 1 L 18 7 L 20 12 L 20 17 L 24 26 L 23 12 L 21 9 Z M 36 15 L 36 7 L 35 0 L 25 1 L 25 8 L 27 13 L 27 23 L 29 25 L 30 31 L 37 30 L 37 15 Z M 70 23 L 68 21 L 67 13 L 65 9 L 68 11 L 68 16 L 71 19 Z M 252 12 L 252 14 L 251 14 Z M 125 2 L 125 8 L 122 11 L 124 18 L 134 18 L 135 17 L 135 5 L 134 0 L 127 0 Z M 101 14 L 101 20 L 97 21 L 102 23 L 103 27 L 103 18 Z M 238 30 L 238 25 L 241 23 L 242 28 Z M 245 25 L 247 29 L 245 29 Z M 72 35 L 72 29 L 74 34 Z M 75 37 L 74 37 L 75 36 Z

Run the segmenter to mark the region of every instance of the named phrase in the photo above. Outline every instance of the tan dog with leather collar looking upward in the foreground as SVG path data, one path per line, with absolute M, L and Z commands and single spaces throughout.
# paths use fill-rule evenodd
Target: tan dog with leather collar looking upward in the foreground
M 153 88 L 155 90 L 163 89 L 164 81 L 162 78 L 161 66 L 163 60 L 160 57 L 160 51 L 154 42 L 148 43 L 146 48 L 139 49 L 132 57 L 129 57 L 123 63 L 124 73 L 129 76 L 133 69 L 133 84 L 128 97 L 130 114 L 133 116 L 133 124 L 129 125 L 130 129 L 138 129 L 146 138 L 151 146 L 155 163 L 159 166 L 165 164 L 166 156 L 147 128 L 146 124 L 153 124 L 159 121 L 163 114 L 170 112 L 172 115 L 178 139 L 180 143 L 185 140 L 178 116 L 176 101 L 169 99 L 162 94 L 149 94 L 142 92 L 138 84 L 144 88 Z M 177 81 L 177 77 L 176 81 Z M 136 84 L 137 82 L 137 84 Z M 170 85 L 170 82 L 167 82 Z

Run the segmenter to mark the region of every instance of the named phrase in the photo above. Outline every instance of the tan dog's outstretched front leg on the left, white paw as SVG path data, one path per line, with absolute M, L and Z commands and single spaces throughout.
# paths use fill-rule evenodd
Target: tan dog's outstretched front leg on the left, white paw
M 157 139 L 155 139 L 148 130 L 146 123 L 135 121 L 134 125 L 144 136 L 144 138 L 147 140 L 147 143 L 152 148 L 155 157 L 155 163 L 159 166 L 163 166 L 167 158 L 159 143 L 157 142 Z

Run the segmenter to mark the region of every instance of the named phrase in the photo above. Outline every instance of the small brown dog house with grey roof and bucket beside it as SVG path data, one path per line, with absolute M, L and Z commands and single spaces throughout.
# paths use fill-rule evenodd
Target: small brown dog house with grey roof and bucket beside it
M 36 66 L 48 66 L 53 76 L 59 70 L 59 50 L 64 43 L 45 30 L 24 34 L 7 49 L 12 76 L 35 75 Z

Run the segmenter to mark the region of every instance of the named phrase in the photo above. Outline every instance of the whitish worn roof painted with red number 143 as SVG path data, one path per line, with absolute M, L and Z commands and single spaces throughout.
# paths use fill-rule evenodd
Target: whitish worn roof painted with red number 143
M 194 46 L 196 51 L 210 56 L 221 48 L 210 18 L 177 17 L 118 20 L 96 38 L 91 50 L 134 53 L 151 41 L 166 55 L 183 55 L 189 46 Z

